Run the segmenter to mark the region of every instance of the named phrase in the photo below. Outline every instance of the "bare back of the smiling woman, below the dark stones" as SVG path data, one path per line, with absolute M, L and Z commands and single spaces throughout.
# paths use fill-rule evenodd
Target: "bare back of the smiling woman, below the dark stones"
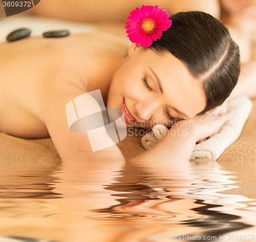
M 105 98 L 111 75 L 128 48 L 120 37 L 96 33 L 0 43 L 0 131 L 20 138 L 50 137 L 40 100 L 53 86 L 58 95 L 70 85 L 84 92 L 101 89 Z

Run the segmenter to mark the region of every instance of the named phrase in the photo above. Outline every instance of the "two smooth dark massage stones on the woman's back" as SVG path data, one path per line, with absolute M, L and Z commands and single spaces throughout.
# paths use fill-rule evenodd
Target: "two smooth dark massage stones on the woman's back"
M 11 42 L 18 39 L 23 39 L 29 37 L 31 34 L 30 29 L 17 29 L 12 31 L 10 34 L 7 35 L 6 39 Z M 48 31 L 43 33 L 42 35 L 45 38 L 54 38 L 54 37 L 65 37 L 68 36 L 70 32 L 68 30 L 58 30 L 58 31 Z

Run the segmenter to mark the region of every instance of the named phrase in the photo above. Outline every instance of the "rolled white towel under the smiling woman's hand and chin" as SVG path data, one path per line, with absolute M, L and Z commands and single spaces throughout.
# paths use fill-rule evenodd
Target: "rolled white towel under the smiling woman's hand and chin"
M 239 138 L 244 124 L 251 112 L 251 108 L 252 102 L 246 96 L 240 96 L 229 101 L 227 103 L 227 111 L 232 110 L 234 115 L 222 126 L 218 134 L 195 145 L 190 160 L 217 160 L 221 153 Z M 155 125 L 151 132 L 148 132 L 142 137 L 142 145 L 146 150 L 152 148 L 167 131 L 168 129 L 164 125 Z

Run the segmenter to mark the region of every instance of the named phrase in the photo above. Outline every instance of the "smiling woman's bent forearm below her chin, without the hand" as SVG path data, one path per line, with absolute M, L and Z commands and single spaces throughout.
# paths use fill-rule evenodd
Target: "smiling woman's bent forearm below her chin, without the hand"
M 185 136 L 181 135 L 182 130 L 187 132 Z M 177 173 L 177 180 L 184 180 L 182 174 L 193 180 L 189 158 L 196 144 L 196 135 L 196 130 L 191 127 L 182 129 L 180 125 L 173 126 L 153 148 L 140 153 L 129 162 L 160 177 L 164 174 L 174 177 Z

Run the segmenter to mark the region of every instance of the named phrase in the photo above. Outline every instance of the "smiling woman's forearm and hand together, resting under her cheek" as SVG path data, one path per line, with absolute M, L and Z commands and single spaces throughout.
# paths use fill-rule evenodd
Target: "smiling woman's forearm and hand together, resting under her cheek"
M 130 161 L 152 167 L 154 170 L 166 166 L 173 167 L 175 164 L 188 168 L 196 142 L 214 134 L 232 116 L 231 112 L 218 114 L 221 108 L 176 122 L 153 148 Z

